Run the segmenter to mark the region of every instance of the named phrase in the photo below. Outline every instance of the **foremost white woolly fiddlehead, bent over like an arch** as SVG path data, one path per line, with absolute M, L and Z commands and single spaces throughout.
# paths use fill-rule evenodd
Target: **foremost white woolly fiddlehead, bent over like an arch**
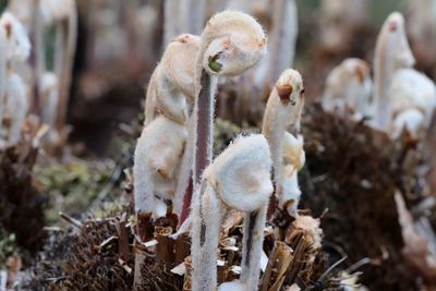
M 271 159 L 261 134 L 237 138 L 206 168 L 193 204 L 192 290 L 215 290 L 217 247 L 227 210 L 244 211 L 241 282 L 256 290 L 268 201 Z

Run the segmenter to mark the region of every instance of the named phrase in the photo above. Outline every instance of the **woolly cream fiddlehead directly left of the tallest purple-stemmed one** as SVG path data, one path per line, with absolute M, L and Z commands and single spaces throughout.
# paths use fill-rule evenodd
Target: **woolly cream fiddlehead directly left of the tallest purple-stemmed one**
M 195 99 L 192 60 L 198 49 L 199 37 L 189 34 L 180 35 L 168 45 L 148 84 L 144 125 L 159 114 L 180 124 L 186 122 Z

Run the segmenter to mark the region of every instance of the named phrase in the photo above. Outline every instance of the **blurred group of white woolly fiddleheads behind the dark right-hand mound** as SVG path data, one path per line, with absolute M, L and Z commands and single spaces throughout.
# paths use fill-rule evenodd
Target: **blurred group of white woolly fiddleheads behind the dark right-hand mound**
M 327 78 L 323 107 L 353 119 L 368 117 L 371 125 L 392 138 L 404 130 L 419 138 L 436 108 L 436 87 L 432 80 L 413 69 L 414 63 L 404 19 L 393 12 L 377 38 L 374 80 L 365 61 L 344 60 Z

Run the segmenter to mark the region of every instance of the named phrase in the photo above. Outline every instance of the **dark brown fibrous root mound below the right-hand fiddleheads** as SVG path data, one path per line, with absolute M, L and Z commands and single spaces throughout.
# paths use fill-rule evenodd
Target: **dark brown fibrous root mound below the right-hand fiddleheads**
M 337 260 L 371 258 L 362 283 L 371 290 L 416 290 L 419 280 L 401 255 L 403 240 L 393 194 L 419 196 L 410 144 L 390 142 L 363 122 L 306 108 L 303 120 L 306 167 L 301 174 L 303 208 L 329 211 L 322 220 L 323 244 Z M 404 169 L 404 165 L 411 169 Z

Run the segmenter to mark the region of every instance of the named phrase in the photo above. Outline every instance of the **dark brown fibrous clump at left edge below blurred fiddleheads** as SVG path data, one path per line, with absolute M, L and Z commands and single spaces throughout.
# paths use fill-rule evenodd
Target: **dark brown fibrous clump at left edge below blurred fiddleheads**
M 40 250 L 44 240 L 45 198 L 32 180 L 44 131 L 29 118 L 20 144 L 0 153 L 0 228 L 15 233 L 17 244 L 32 253 Z

